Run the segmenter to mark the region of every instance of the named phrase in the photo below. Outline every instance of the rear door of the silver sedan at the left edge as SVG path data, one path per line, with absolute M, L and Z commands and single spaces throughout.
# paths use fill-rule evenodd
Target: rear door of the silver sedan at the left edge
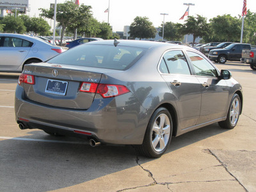
M 33 43 L 21 38 L 5 36 L 0 45 L 0 70 L 15 71 L 22 65 Z

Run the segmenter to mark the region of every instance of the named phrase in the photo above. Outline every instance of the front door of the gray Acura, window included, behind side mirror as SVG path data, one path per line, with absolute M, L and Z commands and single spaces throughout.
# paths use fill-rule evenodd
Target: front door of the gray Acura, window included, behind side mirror
M 200 82 L 202 102 L 197 125 L 224 117 L 227 114 L 228 86 L 218 78 L 212 63 L 197 52 L 187 51 L 189 61 Z

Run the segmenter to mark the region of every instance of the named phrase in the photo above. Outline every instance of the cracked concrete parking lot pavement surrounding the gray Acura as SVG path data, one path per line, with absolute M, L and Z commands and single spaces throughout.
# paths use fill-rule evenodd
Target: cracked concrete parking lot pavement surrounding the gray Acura
M 212 124 L 173 138 L 159 159 L 132 146 L 92 148 L 77 138 L 20 130 L 19 74 L 0 73 L 0 191 L 256 191 L 256 71 L 240 62 L 216 66 L 243 86 L 237 126 Z

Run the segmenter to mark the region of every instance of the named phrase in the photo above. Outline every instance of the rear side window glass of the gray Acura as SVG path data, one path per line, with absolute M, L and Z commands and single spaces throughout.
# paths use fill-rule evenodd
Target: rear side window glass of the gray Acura
M 167 68 L 164 67 L 164 62 L 161 61 L 159 70 L 163 73 L 190 75 L 188 63 L 182 51 L 168 51 L 163 56 Z

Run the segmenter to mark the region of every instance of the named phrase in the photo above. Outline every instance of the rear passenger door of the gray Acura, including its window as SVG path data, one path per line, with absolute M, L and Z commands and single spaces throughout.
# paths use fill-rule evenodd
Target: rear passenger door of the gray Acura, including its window
M 191 76 L 184 53 L 181 50 L 165 52 L 159 71 L 175 97 L 179 129 L 196 125 L 200 116 L 201 85 L 195 76 Z

